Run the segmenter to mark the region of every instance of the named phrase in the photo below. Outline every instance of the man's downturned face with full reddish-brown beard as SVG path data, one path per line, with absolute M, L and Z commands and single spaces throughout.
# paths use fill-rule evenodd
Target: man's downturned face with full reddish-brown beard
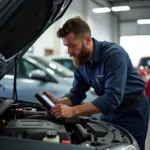
M 68 54 L 73 57 L 74 66 L 81 67 L 87 63 L 89 48 L 86 38 L 76 38 L 74 33 L 70 33 L 63 38 L 63 44 L 68 47 Z

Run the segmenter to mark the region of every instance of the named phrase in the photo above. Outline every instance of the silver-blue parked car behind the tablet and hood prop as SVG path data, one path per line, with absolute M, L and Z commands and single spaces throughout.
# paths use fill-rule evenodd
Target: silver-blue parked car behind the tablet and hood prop
M 38 102 L 34 95 L 44 90 L 48 90 L 57 97 L 62 97 L 72 87 L 73 72 L 55 61 L 47 61 L 44 57 L 27 55 L 19 61 L 17 68 L 19 100 Z M 12 69 L 0 81 L 1 97 L 12 98 L 13 83 L 14 70 Z M 84 102 L 93 99 L 95 96 L 89 91 Z

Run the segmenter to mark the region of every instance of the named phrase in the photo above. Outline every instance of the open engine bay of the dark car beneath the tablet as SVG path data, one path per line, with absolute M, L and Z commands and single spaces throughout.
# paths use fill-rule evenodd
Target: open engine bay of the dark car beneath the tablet
M 40 105 L 0 100 L 0 136 L 94 147 L 135 145 L 124 129 L 90 116 L 56 120 Z

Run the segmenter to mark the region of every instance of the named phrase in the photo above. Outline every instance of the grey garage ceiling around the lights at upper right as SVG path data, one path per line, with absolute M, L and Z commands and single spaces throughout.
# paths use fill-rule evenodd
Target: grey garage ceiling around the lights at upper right
M 150 19 L 150 0 L 93 0 L 99 7 L 130 6 L 130 11 L 112 12 L 119 21 L 131 22 L 137 19 Z

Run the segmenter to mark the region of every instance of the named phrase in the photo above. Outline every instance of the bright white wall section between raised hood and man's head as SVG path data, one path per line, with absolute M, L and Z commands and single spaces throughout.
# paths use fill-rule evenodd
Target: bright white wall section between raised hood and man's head
M 55 50 L 55 54 L 65 55 L 67 53 L 66 47 L 63 46 L 62 41 L 57 38 L 56 32 L 63 25 L 63 23 L 71 17 L 82 16 L 85 18 L 85 12 L 83 11 L 83 7 L 86 7 L 86 0 L 74 0 L 68 10 L 65 12 L 63 17 L 55 22 L 50 28 L 35 42 L 34 54 L 36 55 L 44 55 L 45 48 L 51 48 Z M 86 9 L 85 9 L 86 10 Z

